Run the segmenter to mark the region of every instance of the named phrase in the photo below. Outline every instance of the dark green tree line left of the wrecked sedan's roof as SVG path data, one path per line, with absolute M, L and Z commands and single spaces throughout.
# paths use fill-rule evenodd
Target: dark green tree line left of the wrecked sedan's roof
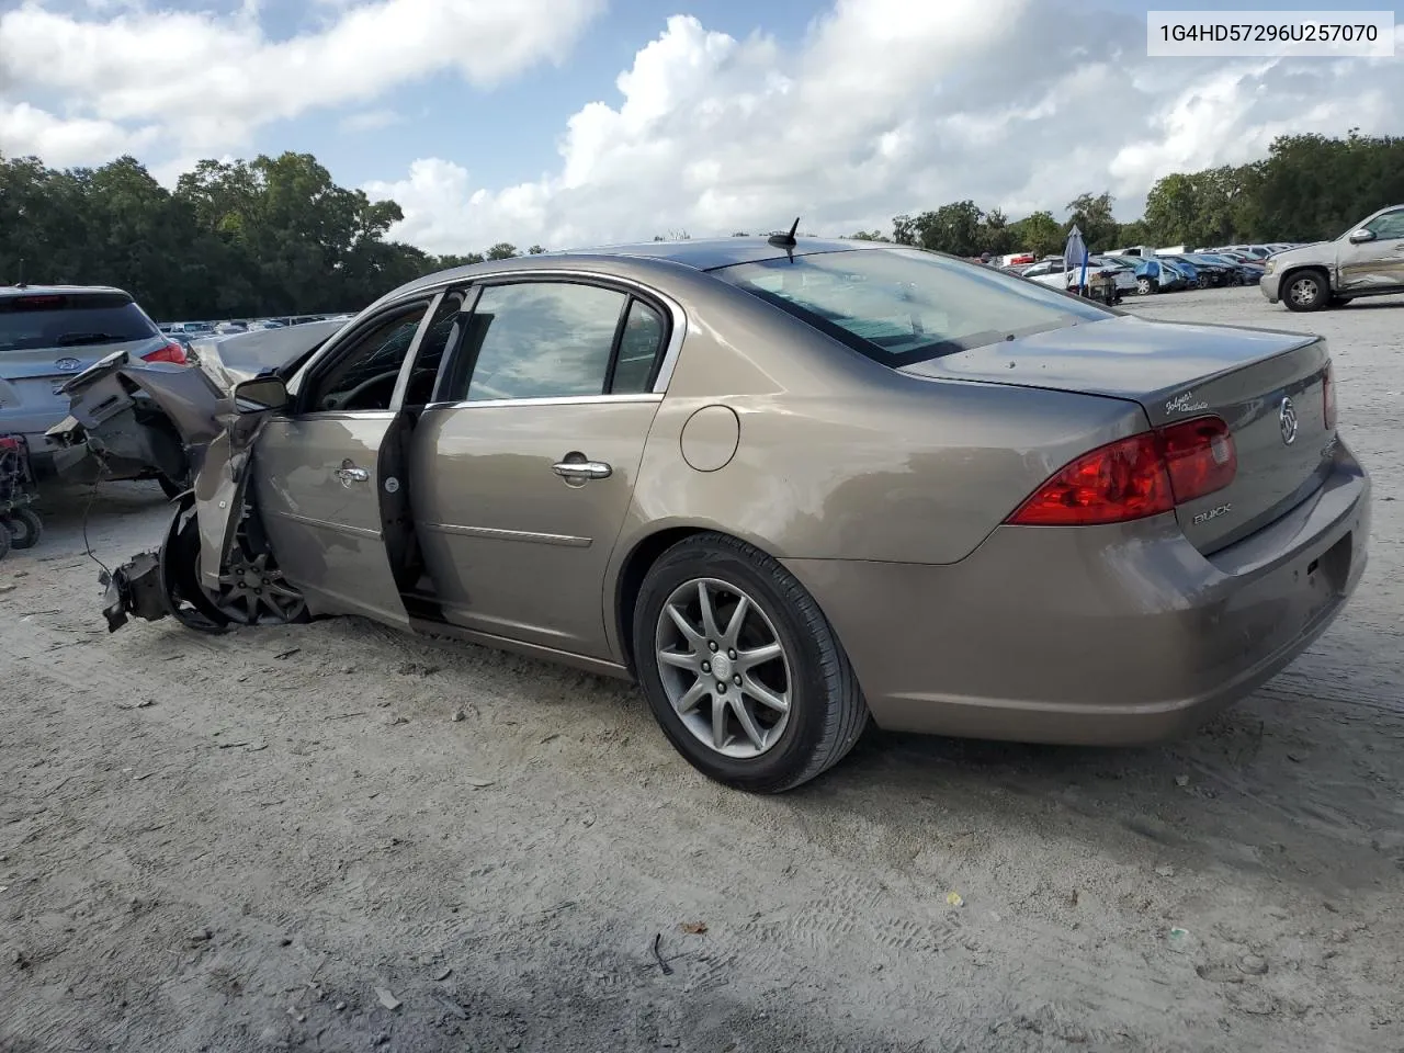
M 253 317 L 359 310 L 421 274 L 519 256 L 505 241 L 431 256 L 386 240 L 400 219 L 305 153 L 199 161 L 174 191 L 133 157 L 62 171 L 0 157 L 0 284 L 117 285 L 160 319 Z

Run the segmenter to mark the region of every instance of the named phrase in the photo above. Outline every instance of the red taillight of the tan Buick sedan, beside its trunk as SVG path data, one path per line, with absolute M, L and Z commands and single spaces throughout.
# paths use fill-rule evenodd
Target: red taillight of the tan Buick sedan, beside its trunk
M 1092 526 L 1174 511 L 1223 490 L 1238 470 L 1233 434 L 1196 417 L 1111 442 L 1060 469 L 1007 522 Z

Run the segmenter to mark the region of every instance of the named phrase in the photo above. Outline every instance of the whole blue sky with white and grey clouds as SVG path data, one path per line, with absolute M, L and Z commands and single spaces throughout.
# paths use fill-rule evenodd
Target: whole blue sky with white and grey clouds
M 431 251 L 889 229 L 974 198 L 1140 213 L 1283 132 L 1404 133 L 1394 59 L 1147 59 L 1177 0 L 0 0 L 0 153 L 299 150 Z

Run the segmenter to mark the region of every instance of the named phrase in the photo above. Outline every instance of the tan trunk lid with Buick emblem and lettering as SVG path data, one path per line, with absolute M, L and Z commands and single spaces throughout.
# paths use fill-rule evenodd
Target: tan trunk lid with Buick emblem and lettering
M 1306 500 L 1325 479 L 1330 354 L 1320 337 L 1118 316 L 972 348 L 904 372 L 1082 392 L 1140 403 L 1153 427 L 1214 414 L 1233 432 L 1234 482 L 1175 514 L 1200 552 L 1231 545 Z

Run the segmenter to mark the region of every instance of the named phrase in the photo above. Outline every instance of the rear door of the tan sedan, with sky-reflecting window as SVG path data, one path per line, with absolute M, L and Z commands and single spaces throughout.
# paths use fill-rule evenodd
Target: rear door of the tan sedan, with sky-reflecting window
M 649 291 L 602 281 L 480 288 L 410 444 L 414 519 L 444 621 L 616 657 L 605 569 L 680 319 Z

